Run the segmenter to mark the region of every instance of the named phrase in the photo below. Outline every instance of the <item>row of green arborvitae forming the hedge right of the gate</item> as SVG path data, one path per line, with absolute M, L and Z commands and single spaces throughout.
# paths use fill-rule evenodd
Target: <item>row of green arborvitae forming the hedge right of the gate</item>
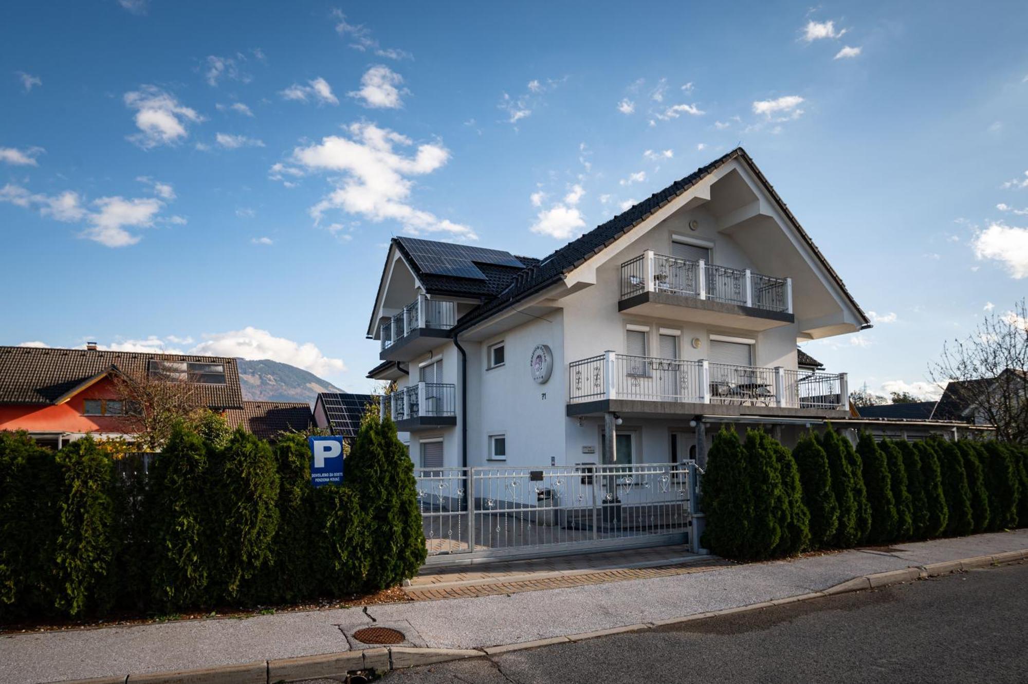
M 831 426 L 788 450 L 725 426 L 701 482 L 702 544 L 738 560 L 1008 529 L 1028 500 L 1028 449 L 996 442 L 876 443 Z

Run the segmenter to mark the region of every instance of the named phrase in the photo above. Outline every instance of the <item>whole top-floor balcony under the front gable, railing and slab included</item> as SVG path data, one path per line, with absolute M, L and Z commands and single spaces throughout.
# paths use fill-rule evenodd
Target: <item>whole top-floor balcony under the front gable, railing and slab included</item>
M 684 308 L 685 307 L 685 308 Z M 647 250 L 621 264 L 619 311 L 767 330 L 793 315 L 793 280 Z

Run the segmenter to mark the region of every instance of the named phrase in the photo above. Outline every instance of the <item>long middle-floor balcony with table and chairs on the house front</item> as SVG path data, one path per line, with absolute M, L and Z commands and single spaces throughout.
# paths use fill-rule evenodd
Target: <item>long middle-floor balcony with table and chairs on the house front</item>
M 567 415 L 825 415 L 847 410 L 845 373 L 675 360 L 607 351 L 567 366 Z

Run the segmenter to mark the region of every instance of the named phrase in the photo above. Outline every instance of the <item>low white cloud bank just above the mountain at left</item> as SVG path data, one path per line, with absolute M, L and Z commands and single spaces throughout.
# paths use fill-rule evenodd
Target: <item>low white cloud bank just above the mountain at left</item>
M 233 356 L 256 360 L 270 358 L 310 371 L 315 375 L 333 375 L 346 370 L 339 358 L 330 358 L 310 342 L 298 344 L 274 337 L 266 330 L 247 327 L 227 333 L 207 334 L 190 353 L 211 356 Z

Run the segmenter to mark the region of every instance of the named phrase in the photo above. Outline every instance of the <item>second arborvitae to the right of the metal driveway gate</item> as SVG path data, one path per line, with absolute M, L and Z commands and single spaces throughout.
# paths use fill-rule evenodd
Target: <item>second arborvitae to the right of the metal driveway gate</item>
M 773 557 L 788 521 L 788 502 L 769 440 L 761 430 L 747 429 L 742 445 L 752 505 L 744 553 L 746 558 L 754 560 Z

